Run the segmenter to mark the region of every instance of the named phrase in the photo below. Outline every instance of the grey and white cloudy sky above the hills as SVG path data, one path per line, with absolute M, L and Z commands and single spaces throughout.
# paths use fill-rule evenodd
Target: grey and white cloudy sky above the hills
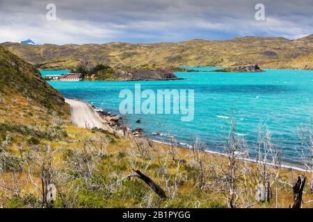
M 49 3 L 56 20 L 48 20 Z M 255 6 L 263 3 L 265 20 Z M 0 0 L 0 42 L 39 44 L 295 39 L 313 33 L 313 0 Z

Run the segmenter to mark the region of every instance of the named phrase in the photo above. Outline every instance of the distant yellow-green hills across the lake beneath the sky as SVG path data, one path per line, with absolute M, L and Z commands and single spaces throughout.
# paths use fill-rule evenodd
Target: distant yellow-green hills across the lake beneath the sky
M 81 60 L 87 60 L 90 64 L 106 63 L 113 67 L 229 67 L 257 62 L 264 68 L 275 67 L 273 62 L 285 62 L 313 52 L 312 35 L 299 40 L 282 37 L 238 37 L 223 41 L 189 40 L 156 44 L 117 42 L 31 46 L 6 42 L 3 46 L 17 56 L 46 69 L 75 67 Z M 271 65 L 267 65 L 268 63 Z

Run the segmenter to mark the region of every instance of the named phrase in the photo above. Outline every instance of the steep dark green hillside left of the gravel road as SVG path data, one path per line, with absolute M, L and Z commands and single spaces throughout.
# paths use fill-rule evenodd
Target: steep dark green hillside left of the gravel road
M 0 94 L 22 96 L 52 110 L 65 105 L 61 94 L 52 88 L 33 65 L 0 46 Z

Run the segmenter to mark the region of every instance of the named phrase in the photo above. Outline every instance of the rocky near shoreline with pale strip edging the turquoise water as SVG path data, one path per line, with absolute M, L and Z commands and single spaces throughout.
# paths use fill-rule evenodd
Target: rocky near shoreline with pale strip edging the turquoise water
M 77 100 L 77 101 L 80 101 L 80 100 Z M 122 120 L 122 117 L 115 115 L 115 114 L 111 114 L 111 112 L 106 112 L 105 110 L 97 108 L 95 105 L 90 105 L 86 101 L 81 101 L 81 102 L 86 103 L 86 105 L 88 105 L 89 108 L 91 110 L 93 110 L 93 112 L 98 114 L 99 118 L 101 118 L 101 119 L 104 118 L 104 123 L 106 123 L 106 125 L 109 126 L 109 128 L 111 128 L 111 130 L 113 130 L 115 133 L 118 133 L 120 135 L 125 135 L 125 133 L 128 133 L 129 135 L 134 136 L 134 137 L 143 136 L 145 139 L 150 139 L 149 137 L 144 136 L 143 129 L 141 129 L 141 128 L 136 128 L 134 130 L 132 128 L 129 128 L 129 127 L 125 128 L 124 126 L 122 126 L 122 123 L 120 123 L 120 121 Z M 109 120 L 113 119 L 113 122 L 108 121 L 108 119 Z M 162 141 L 159 141 L 157 139 L 150 139 L 150 140 L 152 142 L 157 143 L 157 144 L 163 144 L 166 146 L 170 145 L 167 142 L 162 142 Z M 189 145 L 189 146 L 191 146 L 191 145 Z M 182 146 L 179 142 L 177 142 L 177 147 L 178 148 L 184 148 L 184 149 L 191 149 L 190 147 Z M 209 154 L 213 154 L 213 155 L 219 155 L 219 156 L 226 157 L 226 155 L 224 153 L 219 153 L 217 151 L 204 150 L 204 152 L 209 153 Z M 255 160 L 255 159 L 249 159 L 249 158 L 244 158 L 244 157 L 239 157 L 239 160 L 254 162 L 254 163 L 257 162 L 257 160 Z M 271 162 L 268 162 L 267 164 L 270 166 L 273 166 L 273 163 L 271 163 Z M 296 170 L 296 171 L 301 171 L 301 172 L 310 172 L 308 169 L 303 169 L 302 167 L 292 165 L 292 164 L 287 164 L 287 163 L 282 163 L 280 165 L 280 167 L 282 169 Z

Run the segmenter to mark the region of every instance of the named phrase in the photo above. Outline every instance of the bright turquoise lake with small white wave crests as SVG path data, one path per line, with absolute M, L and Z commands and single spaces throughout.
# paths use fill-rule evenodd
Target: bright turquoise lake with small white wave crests
M 210 71 L 214 68 L 196 67 Z M 192 70 L 191 70 L 192 71 Z M 47 74 L 47 71 L 46 73 Z M 49 81 L 63 96 L 81 99 L 102 110 L 119 114 L 119 93 L 141 83 L 141 89 L 194 89 L 195 117 L 181 121 L 175 114 L 127 114 L 124 121 L 131 128 L 144 128 L 151 139 L 168 142 L 173 135 L 182 146 L 199 137 L 209 151 L 223 152 L 229 128 L 230 113 L 234 112 L 237 133 L 243 135 L 251 150 L 257 142 L 260 123 L 266 123 L 283 151 L 284 162 L 299 164 L 295 151 L 300 146 L 298 128 L 312 123 L 313 71 L 266 69 L 262 73 L 175 73 L 186 80 L 106 82 Z M 141 118 L 141 123 L 136 119 Z

